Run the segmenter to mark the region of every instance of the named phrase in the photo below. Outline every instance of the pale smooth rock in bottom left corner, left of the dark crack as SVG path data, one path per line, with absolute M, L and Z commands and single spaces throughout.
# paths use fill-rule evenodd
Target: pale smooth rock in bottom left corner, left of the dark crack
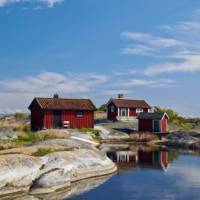
M 42 166 L 41 159 L 31 156 L 0 156 L 0 196 L 28 191 Z

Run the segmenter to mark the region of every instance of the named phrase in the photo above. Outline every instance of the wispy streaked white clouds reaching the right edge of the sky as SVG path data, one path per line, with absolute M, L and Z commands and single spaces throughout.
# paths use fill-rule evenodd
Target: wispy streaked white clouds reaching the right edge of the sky
M 196 13 L 199 17 L 199 10 Z M 144 70 L 147 76 L 200 72 L 199 19 L 164 25 L 160 30 L 163 35 L 170 35 L 170 38 L 157 37 L 150 33 L 123 32 L 122 36 L 135 44 L 129 44 L 122 52 L 162 57 L 161 63 L 153 64 Z

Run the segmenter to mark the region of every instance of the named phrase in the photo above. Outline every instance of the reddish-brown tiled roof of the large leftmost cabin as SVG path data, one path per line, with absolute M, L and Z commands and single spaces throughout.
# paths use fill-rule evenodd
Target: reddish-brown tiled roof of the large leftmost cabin
M 90 99 L 68 99 L 68 98 L 43 98 L 36 97 L 29 106 L 37 102 L 43 110 L 96 110 L 95 105 Z

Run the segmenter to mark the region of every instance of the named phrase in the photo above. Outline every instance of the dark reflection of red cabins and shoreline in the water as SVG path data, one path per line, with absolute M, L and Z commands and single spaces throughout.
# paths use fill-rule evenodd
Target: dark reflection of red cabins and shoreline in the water
M 106 149 L 107 156 L 118 166 L 121 173 L 128 169 L 151 168 L 167 172 L 170 162 L 177 159 L 177 153 L 166 149 L 152 148 L 148 146 L 109 146 Z

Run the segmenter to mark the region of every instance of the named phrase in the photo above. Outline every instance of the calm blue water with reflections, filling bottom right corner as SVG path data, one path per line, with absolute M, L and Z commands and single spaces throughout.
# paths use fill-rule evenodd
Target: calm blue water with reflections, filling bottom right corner
M 102 151 L 117 163 L 118 173 L 73 200 L 200 199 L 198 156 L 135 146 Z

